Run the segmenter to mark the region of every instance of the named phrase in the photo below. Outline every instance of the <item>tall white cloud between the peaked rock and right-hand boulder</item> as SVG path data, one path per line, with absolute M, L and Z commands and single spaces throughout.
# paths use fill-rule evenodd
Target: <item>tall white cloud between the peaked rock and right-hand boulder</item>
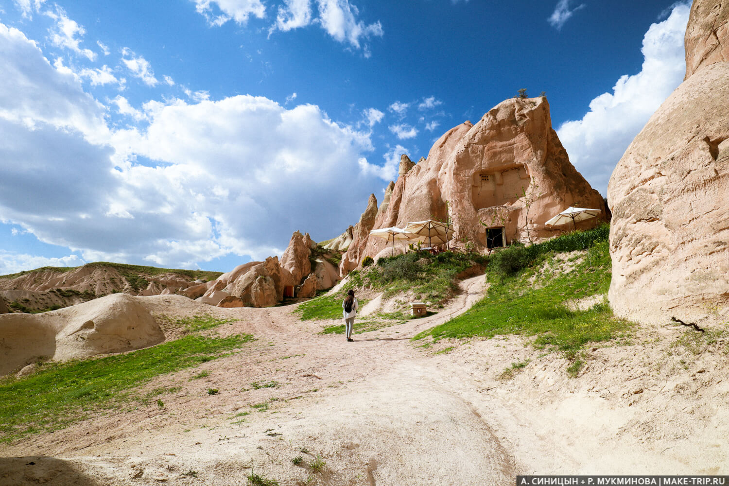
M 580 120 L 557 130 L 572 164 L 603 195 L 617 161 L 685 74 L 684 33 L 689 7 L 680 4 L 643 38 L 642 71 L 620 77 L 612 93 L 590 102 Z

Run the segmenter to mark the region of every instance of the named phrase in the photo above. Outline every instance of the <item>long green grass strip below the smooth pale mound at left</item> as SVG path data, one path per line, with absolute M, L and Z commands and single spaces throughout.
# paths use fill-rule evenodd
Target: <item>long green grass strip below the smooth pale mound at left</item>
M 0 383 L 0 442 L 55 431 L 108 409 L 146 404 L 139 387 L 154 377 L 228 356 L 250 334 L 189 335 L 104 358 L 44 364 L 34 375 Z M 158 406 L 157 402 L 157 406 Z

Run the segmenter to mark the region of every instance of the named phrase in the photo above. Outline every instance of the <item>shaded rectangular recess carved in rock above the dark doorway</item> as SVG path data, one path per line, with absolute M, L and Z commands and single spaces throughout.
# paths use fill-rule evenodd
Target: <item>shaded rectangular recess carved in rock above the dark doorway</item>
M 522 189 L 529 187 L 529 171 L 518 164 L 499 171 L 480 172 L 473 176 L 472 203 L 476 210 L 513 203 Z

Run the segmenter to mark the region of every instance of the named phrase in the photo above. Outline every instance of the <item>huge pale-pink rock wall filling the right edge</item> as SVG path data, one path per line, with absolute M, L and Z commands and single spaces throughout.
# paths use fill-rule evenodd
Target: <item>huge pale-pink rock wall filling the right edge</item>
M 687 79 L 612 173 L 609 299 L 617 315 L 665 323 L 729 310 L 728 16 L 726 1 L 694 1 Z

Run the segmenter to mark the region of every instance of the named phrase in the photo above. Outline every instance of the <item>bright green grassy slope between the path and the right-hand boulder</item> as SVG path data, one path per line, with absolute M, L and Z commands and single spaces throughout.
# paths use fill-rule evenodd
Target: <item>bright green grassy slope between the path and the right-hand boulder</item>
M 633 324 L 615 318 L 607 302 L 588 310 L 566 307 L 570 300 L 607 294 L 611 269 L 607 232 L 603 240 L 593 240 L 590 245 L 570 273 L 557 270 L 558 262 L 550 251 L 536 252 L 534 259 L 512 277 L 489 275 L 491 287 L 484 299 L 413 340 L 521 334 L 534 337 L 537 348 L 580 350 L 588 342 L 624 335 Z

